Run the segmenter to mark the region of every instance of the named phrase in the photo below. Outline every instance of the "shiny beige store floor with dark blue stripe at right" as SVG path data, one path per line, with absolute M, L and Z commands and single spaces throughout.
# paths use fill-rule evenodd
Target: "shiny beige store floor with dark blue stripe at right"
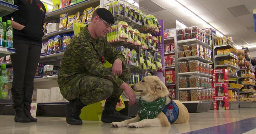
M 190 113 L 190 122 L 170 127 L 112 128 L 108 123 L 83 121 L 68 125 L 63 117 L 37 117 L 36 123 L 16 123 L 14 116 L 0 116 L 0 134 L 255 134 L 256 109 Z

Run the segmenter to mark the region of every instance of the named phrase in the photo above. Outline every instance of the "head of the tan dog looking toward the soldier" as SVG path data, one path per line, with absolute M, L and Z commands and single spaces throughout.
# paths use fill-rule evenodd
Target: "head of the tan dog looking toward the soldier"
M 164 83 L 157 76 L 146 76 L 142 81 L 134 84 L 132 89 L 141 92 L 142 96 L 160 98 L 169 95 Z M 153 100 L 154 101 L 154 100 Z

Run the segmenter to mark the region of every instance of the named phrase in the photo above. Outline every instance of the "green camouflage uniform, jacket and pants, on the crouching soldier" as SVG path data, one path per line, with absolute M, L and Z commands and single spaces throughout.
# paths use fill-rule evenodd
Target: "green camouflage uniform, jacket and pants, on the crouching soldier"
M 112 68 L 103 65 L 122 60 L 122 75 L 115 76 Z M 118 97 L 120 85 L 128 82 L 130 69 L 124 56 L 118 53 L 105 38 L 93 39 L 85 27 L 69 43 L 58 74 L 60 92 L 67 100 L 79 98 L 85 104 L 93 104 L 110 96 Z

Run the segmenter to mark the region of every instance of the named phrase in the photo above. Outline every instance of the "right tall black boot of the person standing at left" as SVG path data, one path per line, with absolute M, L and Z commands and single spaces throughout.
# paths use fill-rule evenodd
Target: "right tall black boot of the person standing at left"
M 33 96 L 33 87 L 24 87 L 24 112 L 25 115 L 30 119 L 31 122 L 37 122 L 37 119 L 31 116 L 30 109 Z

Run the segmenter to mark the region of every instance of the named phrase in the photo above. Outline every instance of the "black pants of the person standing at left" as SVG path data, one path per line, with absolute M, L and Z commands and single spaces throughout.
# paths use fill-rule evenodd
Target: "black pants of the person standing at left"
M 24 96 L 28 96 L 26 99 L 31 100 L 34 75 L 40 59 L 41 46 L 30 43 L 14 43 L 14 48 L 16 53 L 11 55 L 12 68 L 14 70 L 11 92 L 15 108 L 23 105 Z

